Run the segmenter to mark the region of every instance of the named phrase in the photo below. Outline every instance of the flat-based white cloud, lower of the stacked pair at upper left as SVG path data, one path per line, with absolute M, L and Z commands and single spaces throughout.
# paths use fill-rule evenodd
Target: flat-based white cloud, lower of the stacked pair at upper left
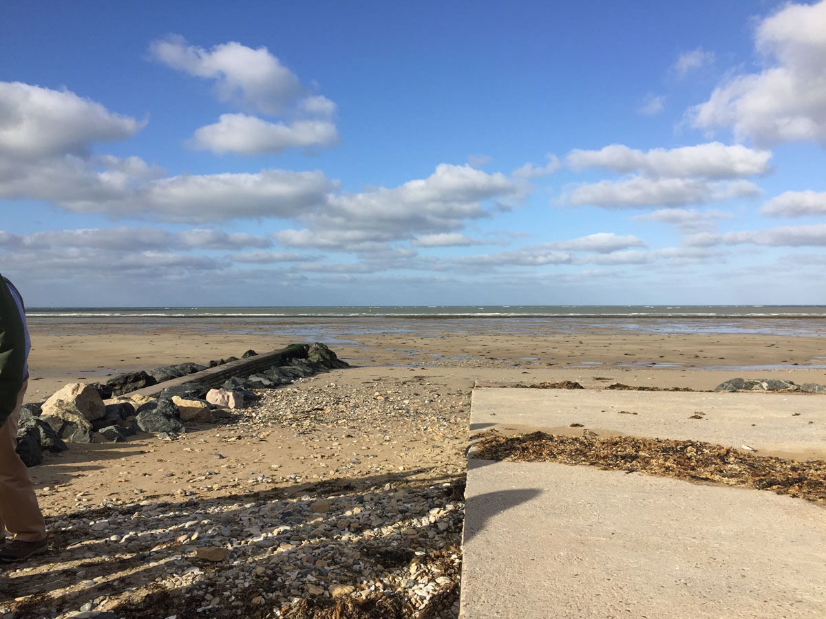
M 285 149 L 330 146 L 339 139 L 330 120 L 293 120 L 289 124 L 268 122 L 246 114 L 221 114 L 214 125 L 195 131 L 192 148 L 216 154 L 278 154 Z

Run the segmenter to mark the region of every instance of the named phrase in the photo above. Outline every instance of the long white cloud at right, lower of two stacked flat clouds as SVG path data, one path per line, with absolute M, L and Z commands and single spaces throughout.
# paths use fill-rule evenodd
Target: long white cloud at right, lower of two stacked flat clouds
M 563 199 L 574 206 L 605 209 L 648 206 L 686 206 L 752 197 L 762 190 L 752 182 L 708 182 L 697 178 L 633 177 L 623 181 L 581 184 L 563 191 Z

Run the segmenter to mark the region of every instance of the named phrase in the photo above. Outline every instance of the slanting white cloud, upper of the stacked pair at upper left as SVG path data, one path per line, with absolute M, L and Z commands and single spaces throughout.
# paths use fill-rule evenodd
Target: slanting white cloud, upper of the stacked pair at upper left
M 280 116 L 305 94 L 297 75 L 263 46 L 254 50 L 230 41 L 205 50 L 173 35 L 153 41 L 150 54 L 173 69 L 215 80 L 222 101 L 264 114 Z

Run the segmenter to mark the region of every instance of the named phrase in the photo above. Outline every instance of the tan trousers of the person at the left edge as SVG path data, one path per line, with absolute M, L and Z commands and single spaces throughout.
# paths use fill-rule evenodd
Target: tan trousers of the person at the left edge
M 17 394 L 17 407 L 0 426 L 0 539 L 5 535 L 5 527 L 17 540 L 40 541 L 46 536 L 43 513 L 37 504 L 29 471 L 15 451 L 17 423 L 27 385 L 26 380 Z

